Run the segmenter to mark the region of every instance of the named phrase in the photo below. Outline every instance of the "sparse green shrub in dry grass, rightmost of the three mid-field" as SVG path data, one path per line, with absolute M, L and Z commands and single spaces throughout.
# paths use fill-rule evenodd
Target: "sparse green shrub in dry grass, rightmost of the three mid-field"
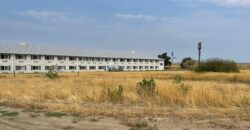
M 177 89 L 183 96 L 186 96 L 191 90 L 192 86 L 182 83 L 183 77 L 181 75 L 175 75 L 173 77 L 173 87 Z

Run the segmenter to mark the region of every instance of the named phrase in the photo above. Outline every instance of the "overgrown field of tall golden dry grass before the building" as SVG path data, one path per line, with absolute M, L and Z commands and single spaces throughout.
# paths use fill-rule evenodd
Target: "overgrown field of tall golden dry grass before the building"
M 83 72 L 79 76 L 77 73 L 59 76 L 51 80 L 42 74 L 17 74 L 15 78 L 2 74 L 0 102 L 85 115 L 222 116 L 250 120 L 249 70 L 240 73 Z M 143 85 L 143 79 L 154 79 L 153 85 L 149 82 Z

